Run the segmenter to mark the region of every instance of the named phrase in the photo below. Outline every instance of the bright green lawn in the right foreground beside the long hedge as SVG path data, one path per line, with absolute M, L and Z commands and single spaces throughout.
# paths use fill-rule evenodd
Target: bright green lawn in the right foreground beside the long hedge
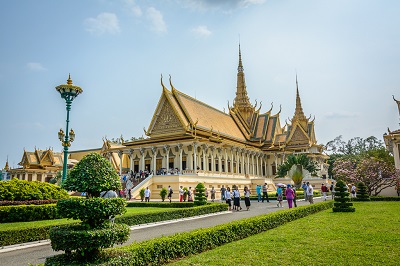
M 399 265 L 400 204 L 355 202 L 326 210 L 172 265 Z

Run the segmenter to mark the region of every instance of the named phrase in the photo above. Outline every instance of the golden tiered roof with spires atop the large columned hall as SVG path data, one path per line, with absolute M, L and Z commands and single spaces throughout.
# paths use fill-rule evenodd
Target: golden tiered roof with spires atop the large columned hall
M 272 107 L 260 113 L 261 103 L 250 103 L 244 78 L 239 45 L 236 97 L 226 114 L 193 97 L 178 91 L 171 82 L 168 90 L 162 81 L 162 94 L 150 125 L 145 130 L 150 139 L 193 138 L 229 139 L 245 145 L 275 150 L 282 147 L 311 147 L 316 145 L 314 120 L 306 118 L 301 106 L 296 76 L 296 108 L 291 124 L 281 127 L 280 112 L 271 114 Z M 287 129 L 286 129 L 287 126 Z

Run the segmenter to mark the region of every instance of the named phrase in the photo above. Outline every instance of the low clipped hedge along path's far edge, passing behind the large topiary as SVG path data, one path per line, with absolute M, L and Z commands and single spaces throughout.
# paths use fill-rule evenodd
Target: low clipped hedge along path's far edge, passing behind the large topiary
M 215 213 L 226 211 L 227 209 L 228 205 L 215 203 L 206 206 L 181 208 L 178 210 L 170 210 L 166 212 L 124 215 L 116 217 L 115 222 L 125 223 L 128 225 L 137 225 Z M 49 239 L 49 231 L 52 227 L 54 226 L 27 227 L 25 229 L 0 231 L 0 246 L 8 246 Z

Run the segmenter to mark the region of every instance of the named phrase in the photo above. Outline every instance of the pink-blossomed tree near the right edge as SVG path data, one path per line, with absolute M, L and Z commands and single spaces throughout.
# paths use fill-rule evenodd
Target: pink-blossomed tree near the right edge
M 345 182 L 363 182 L 368 194 L 373 196 L 385 188 L 395 186 L 400 180 L 399 172 L 391 162 L 369 156 L 340 158 L 334 163 L 333 172 L 337 179 Z

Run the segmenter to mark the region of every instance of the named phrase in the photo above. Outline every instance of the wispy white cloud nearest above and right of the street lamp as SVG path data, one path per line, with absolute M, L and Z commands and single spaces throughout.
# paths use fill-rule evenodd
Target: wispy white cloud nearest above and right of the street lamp
M 120 32 L 117 15 L 114 13 L 100 13 L 96 18 L 87 18 L 84 21 L 85 30 L 95 35 Z

